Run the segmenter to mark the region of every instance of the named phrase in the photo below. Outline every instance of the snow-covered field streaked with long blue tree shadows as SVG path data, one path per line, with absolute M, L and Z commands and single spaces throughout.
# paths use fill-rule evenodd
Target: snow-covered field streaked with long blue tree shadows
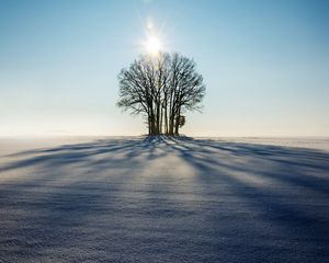
M 328 138 L 0 139 L 0 262 L 328 261 Z

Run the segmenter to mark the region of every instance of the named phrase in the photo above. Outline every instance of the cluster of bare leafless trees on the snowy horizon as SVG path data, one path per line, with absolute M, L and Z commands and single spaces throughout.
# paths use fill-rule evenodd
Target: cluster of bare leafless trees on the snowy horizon
M 201 110 L 205 94 L 195 62 L 179 54 L 140 56 L 118 75 L 117 105 L 143 114 L 149 135 L 178 135 L 185 111 Z

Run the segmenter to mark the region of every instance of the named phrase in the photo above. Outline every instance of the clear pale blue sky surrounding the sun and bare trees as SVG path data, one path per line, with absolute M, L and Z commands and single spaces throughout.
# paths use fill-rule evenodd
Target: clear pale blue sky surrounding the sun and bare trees
M 115 102 L 151 20 L 205 79 L 182 133 L 329 136 L 328 14 L 326 0 L 0 0 L 0 135 L 146 133 Z

